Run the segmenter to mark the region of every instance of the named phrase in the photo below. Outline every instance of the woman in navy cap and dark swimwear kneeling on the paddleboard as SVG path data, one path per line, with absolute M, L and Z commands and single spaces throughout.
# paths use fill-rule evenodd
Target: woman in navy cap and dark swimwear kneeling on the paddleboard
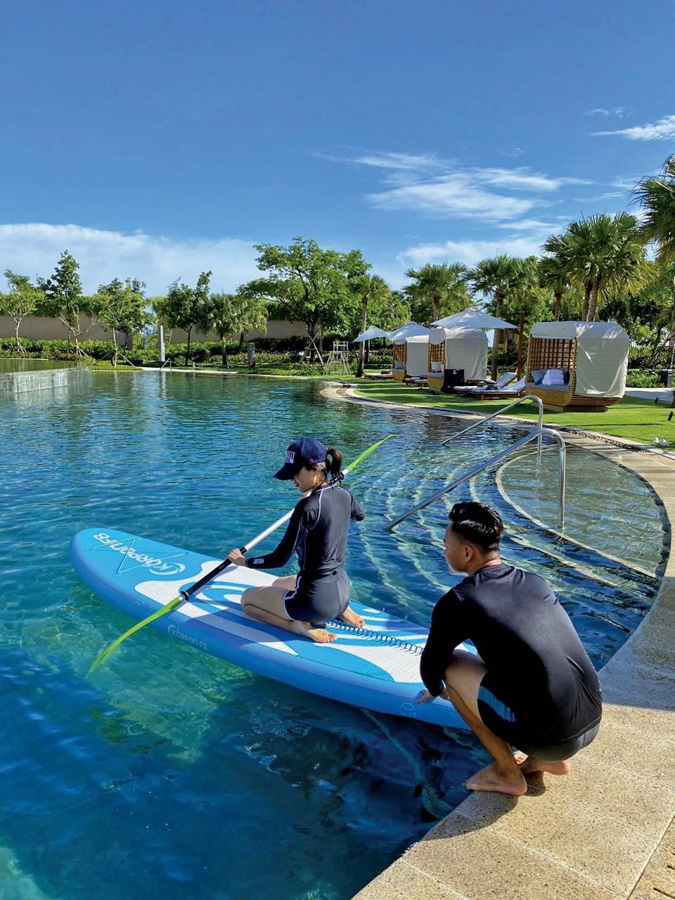
M 302 497 L 281 543 L 266 556 L 245 559 L 237 550 L 228 556 L 249 569 L 277 569 L 298 554 L 300 571 L 277 578 L 268 588 L 249 588 L 241 595 L 241 608 L 258 622 L 266 622 L 310 637 L 319 644 L 334 641 L 326 631 L 329 619 L 363 628 L 363 619 L 349 608 L 349 579 L 345 552 L 349 520 L 365 517 L 363 507 L 338 483 L 342 455 L 314 437 L 293 441 L 284 465 L 275 473 L 282 482 L 293 481 Z M 329 476 L 333 482 L 329 482 Z

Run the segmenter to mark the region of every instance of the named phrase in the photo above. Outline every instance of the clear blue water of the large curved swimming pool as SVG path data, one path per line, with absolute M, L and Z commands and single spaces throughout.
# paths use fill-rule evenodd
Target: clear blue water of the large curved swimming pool
M 91 387 L 0 400 L 0 896 L 347 900 L 464 798 L 484 762 L 468 734 L 330 703 L 150 629 L 87 680 L 130 623 L 77 581 L 67 545 L 79 528 L 223 555 L 297 499 L 270 477 L 291 438 L 316 434 L 349 459 L 396 432 L 350 481 L 368 512 L 350 536 L 357 599 L 427 623 L 455 582 L 446 506 L 475 496 L 500 509 L 505 557 L 552 582 L 597 665 L 639 624 L 663 531 L 634 475 L 570 451 L 579 543 L 510 505 L 554 524 L 551 453 L 389 534 L 385 518 L 517 433 L 477 429 L 439 448 L 464 426 L 331 401 L 322 387 L 95 374 Z

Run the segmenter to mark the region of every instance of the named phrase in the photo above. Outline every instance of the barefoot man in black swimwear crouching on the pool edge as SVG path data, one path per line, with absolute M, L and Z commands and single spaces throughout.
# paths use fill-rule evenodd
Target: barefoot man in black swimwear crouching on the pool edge
M 456 503 L 450 511 L 446 562 L 466 578 L 434 608 L 420 662 L 427 690 L 418 702 L 449 700 L 490 753 L 491 765 L 467 788 L 518 797 L 529 772 L 568 774 L 571 757 L 598 734 L 602 698 L 553 590 L 501 562 L 503 530 L 482 503 Z M 477 656 L 456 649 L 467 640 Z M 511 747 L 521 752 L 518 760 Z

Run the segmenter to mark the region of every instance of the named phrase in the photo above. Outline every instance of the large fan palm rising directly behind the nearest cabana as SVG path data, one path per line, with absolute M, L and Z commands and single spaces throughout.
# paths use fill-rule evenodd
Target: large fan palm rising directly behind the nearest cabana
M 564 238 L 572 281 L 584 289 L 583 320 L 595 320 L 599 297 L 636 291 L 644 284 L 645 238 L 635 216 L 603 213 L 570 222 Z

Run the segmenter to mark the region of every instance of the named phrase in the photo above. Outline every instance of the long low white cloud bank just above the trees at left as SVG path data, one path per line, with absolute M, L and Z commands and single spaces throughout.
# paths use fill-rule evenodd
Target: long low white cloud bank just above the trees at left
M 209 269 L 214 291 L 233 291 L 260 275 L 256 250 L 238 238 L 175 240 L 79 225 L 0 225 L 0 259 L 14 272 L 47 277 L 66 249 L 80 265 L 85 293 L 129 276 L 144 281 L 153 296 L 166 293 L 176 278 L 196 284 L 200 272 Z

